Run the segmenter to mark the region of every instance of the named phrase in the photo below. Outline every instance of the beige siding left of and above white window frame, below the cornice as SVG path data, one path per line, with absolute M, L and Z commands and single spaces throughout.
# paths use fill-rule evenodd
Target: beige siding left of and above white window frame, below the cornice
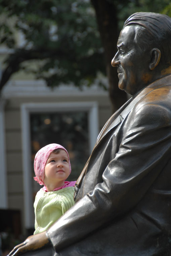
M 9 97 L 5 106 L 6 131 L 6 159 L 9 209 L 19 209 L 22 213 L 22 226 L 24 227 L 24 191 L 23 191 L 23 156 L 20 106 L 30 102 L 83 102 L 96 101 L 98 104 L 99 130 L 111 116 L 111 103 L 108 95 L 79 95 L 79 96 L 48 96 L 37 97 Z

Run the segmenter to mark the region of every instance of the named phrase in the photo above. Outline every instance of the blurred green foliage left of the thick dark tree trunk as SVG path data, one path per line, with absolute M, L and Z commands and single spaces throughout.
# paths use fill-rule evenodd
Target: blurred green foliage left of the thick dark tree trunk
M 1 87 L 19 69 L 35 73 L 48 86 L 61 82 L 79 86 L 85 81 L 89 85 L 97 71 L 105 72 L 95 12 L 89 1 L 2 0 L 0 7 L 1 44 L 14 49 L 5 61 Z M 9 18 L 11 27 L 7 25 Z M 17 45 L 15 31 L 25 37 L 22 47 Z M 39 61 L 28 65 L 29 60 Z

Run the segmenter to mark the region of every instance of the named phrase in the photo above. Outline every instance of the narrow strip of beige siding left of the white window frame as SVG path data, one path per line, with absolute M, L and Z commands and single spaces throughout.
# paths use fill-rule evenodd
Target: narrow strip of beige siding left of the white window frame
M 24 232 L 24 195 L 20 110 L 7 100 L 5 108 L 8 208 L 20 210 Z

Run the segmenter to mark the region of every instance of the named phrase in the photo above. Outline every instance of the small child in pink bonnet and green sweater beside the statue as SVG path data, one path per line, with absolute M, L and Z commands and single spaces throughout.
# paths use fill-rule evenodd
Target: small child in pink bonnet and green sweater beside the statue
M 35 197 L 35 232 L 47 230 L 74 205 L 76 181 L 66 179 L 71 173 L 68 152 L 59 144 L 49 144 L 40 149 L 34 160 L 34 180 L 44 185 Z

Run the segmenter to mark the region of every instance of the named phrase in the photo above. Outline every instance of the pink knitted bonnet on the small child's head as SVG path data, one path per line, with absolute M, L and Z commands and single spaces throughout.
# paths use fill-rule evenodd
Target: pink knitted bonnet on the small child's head
M 71 172 L 71 164 L 70 164 L 70 158 L 69 158 L 69 154 L 67 152 L 67 150 L 62 147 L 59 144 L 49 144 L 46 145 L 45 147 L 41 148 L 35 156 L 35 160 L 34 160 L 34 171 L 36 174 L 36 177 L 34 177 L 34 180 L 37 181 L 40 185 L 45 185 L 44 184 L 44 171 L 45 171 L 45 165 L 47 162 L 47 159 L 50 155 L 50 153 L 55 150 L 55 149 L 63 149 L 66 151 L 67 155 L 68 155 L 68 160 L 69 160 L 69 165 L 70 165 L 70 172 Z

